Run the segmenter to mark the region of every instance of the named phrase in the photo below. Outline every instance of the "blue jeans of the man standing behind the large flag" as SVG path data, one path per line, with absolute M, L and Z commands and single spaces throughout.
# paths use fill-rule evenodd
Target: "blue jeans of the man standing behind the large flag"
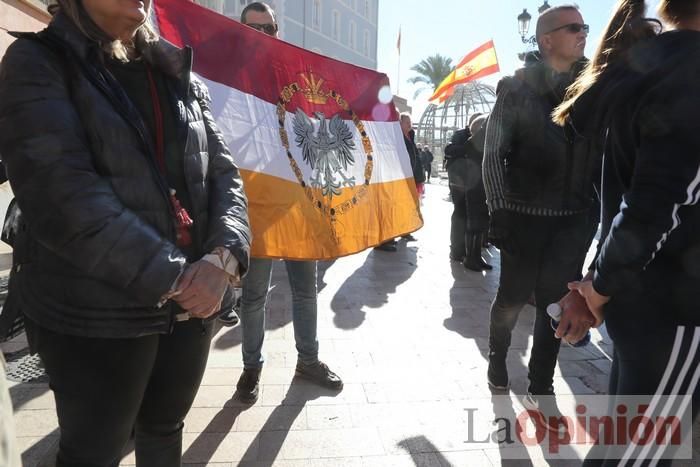
M 251 258 L 243 279 L 241 329 L 243 367 L 260 368 L 264 362 L 265 303 L 272 277 L 271 259 Z M 299 360 L 307 365 L 318 361 L 316 339 L 316 261 L 284 260 L 292 289 L 292 322 Z

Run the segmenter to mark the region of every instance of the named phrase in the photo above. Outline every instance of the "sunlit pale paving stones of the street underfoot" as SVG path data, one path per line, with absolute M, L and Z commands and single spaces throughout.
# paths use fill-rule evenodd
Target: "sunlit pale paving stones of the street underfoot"
M 545 460 L 537 446 L 524 453 L 526 459 L 503 460 L 505 448 L 476 449 L 465 442 L 465 409 L 480 408 L 493 417 L 495 406 L 485 382 L 485 354 L 498 252 L 489 251 L 494 270 L 488 273 L 448 261 L 447 196 L 444 183 L 426 185 L 425 227 L 415 234 L 417 242 L 401 241 L 396 253 L 368 250 L 319 264 L 320 357 L 345 382 L 338 394 L 294 378 L 290 291 L 285 268 L 276 265 L 260 400 L 250 407 L 232 400 L 242 371 L 241 331 L 222 328 L 185 421 L 186 465 L 580 465 L 578 459 Z M 523 394 L 527 386 L 533 319 L 534 309 L 527 306 L 513 335 L 512 394 Z M 558 394 L 605 391 L 611 345 L 597 331 L 593 343 L 562 348 Z M 3 348 L 23 344 L 20 337 Z M 14 384 L 11 394 L 25 466 L 53 465 L 58 428 L 50 390 L 46 384 Z M 128 448 L 122 465 L 134 462 Z

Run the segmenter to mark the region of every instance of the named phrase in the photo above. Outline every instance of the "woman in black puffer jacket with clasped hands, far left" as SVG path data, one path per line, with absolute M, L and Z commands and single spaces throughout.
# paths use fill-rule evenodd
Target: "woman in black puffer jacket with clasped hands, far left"
M 0 154 L 21 210 L 7 306 L 26 317 L 57 465 L 179 465 L 212 324 L 248 265 L 238 170 L 191 49 L 150 2 L 59 0 L 0 69 Z

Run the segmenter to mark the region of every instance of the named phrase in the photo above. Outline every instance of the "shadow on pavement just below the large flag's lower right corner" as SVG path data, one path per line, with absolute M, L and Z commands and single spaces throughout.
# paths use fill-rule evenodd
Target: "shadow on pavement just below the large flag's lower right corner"
M 379 309 L 389 295 L 406 282 L 417 267 L 417 248 L 404 240 L 398 251 L 374 250 L 340 286 L 331 300 L 333 323 L 340 329 L 355 329 L 365 321 L 366 309 Z

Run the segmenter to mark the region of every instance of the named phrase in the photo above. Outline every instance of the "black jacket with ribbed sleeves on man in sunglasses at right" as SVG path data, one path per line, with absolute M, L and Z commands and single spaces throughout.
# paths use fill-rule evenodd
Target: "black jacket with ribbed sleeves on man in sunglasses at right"
M 484 164 L 492 209 L 547 215 L 582 212 L 594 205 L 600 141 L 562 128 L 551 117 L 583 63 L 569 74 L 556 74 L 537 62 L 499 83 L 502 113 L 491 116 L 488 131 L 501 138 L 498 147 L 489 136 L 486 144 L 505 172 L 494 176 L 490 172 L 494 163 Z M 499 192 L 504 199 L 493 199 L 494 191 L 489 192 L 489 184 L 496 180 L 503 180 Z

